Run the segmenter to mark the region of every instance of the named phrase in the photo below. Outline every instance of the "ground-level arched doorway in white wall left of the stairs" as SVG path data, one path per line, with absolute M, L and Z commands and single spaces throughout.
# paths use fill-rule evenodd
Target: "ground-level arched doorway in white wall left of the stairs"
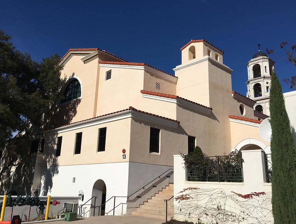
M 97 180 L 94 183 L 92 196 L 97 196 L 96 205 L 94 207 L 94 199 L 91 200 L 91 215 L 105 215 L 105 202 L 106 202 L 106 184 L 103 180 Z M 102 206 L 101 206 L 102 205 Z M 101 206 L 101 208 L 99 208 Z M 94 213 L 95 209 L 95 213 Z

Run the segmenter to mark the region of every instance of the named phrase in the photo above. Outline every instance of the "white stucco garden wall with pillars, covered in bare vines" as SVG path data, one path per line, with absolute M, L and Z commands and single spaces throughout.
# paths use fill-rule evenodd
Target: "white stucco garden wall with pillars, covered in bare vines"
M 242 157 L 244 182 L 219 183 L 187 181 L 183 159 L 180 155 L 174 155 L 175 199 L 181 194 L 194 195 L 192 192 L 196 192 L 191 199 L 174 201 L 174 218 L 197 222 L 197 218 L 200 217 L 203 223 L 222 223 L 221 220 L 223 223 L 272 223 L 271 183 L 266 183 L 264 152 L 261 149 L 246 150 L 242 151 Z M 185 188 L 194 189 L 179 193 Z M 242 195 L 265 192 L 266 195 L 244 199 L 234 192 Z M 194 210 L 190 215 L 185 215 L 190 207 L 194 207 Z

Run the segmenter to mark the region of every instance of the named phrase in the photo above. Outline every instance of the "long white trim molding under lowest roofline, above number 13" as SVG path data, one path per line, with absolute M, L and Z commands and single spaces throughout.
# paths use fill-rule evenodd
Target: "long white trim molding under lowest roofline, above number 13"
M 139 111 L 136 111 L 133 109 L 129 109 L 129 110 L 125 110 L 122 112 L 118 112 L 118 113 L 114 113 L 114 114 L 110 114 L 110 115 L 106 115 L 106 116 L 102 116 L 102 117 L 96 117 L 96 118 L 93 118 L 90 120 L 84 120 L 81 122 L 69 124 L 66 126 L 59 127 L 59 128 L 47 130 L 47 131 L 45 131 L 45 133 L 50 133 L 50 134 L 52 134 L 53 132 L 54 133 L 62 133 L 62 132 L 66 132 L 66 131 L 76 130 L 76 129 L 80 129 L 80 128 L 86 128 L 86 127 L 104 124 L 104 123 L 117 121 L 117 120 L 122 120 L 122 119 L 126 119 L 126 118 L 136 118 L 139 120 L 145 120 L 148 122 L 153 122 L 153 123 L 165 125 L 165 126 L 169 126 L 172 128 L 177 128 L 179 125 L 179 123 L 174 120 L 168 120 L 163 117 L 158 117 L 155 115 L 146 114 L 144 112 L 139 112 Z

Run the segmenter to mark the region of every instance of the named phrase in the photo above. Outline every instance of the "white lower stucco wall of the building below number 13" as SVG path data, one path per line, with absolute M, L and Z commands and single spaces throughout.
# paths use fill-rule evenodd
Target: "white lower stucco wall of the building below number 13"
M 170 168 L 173 167 L 136 162 L 58 166 L 58 173 L 52 177 L 52 183 L 46 183 L 44 179 L 41 180 L 41 192 L 44 192 L 44 187 L 49 185 L 52 187 L 47 192 L 48 195 L 78 196 L 79 191 L 82 190 L 84 200 L 83 202 L 79 201 L 79 205 L 87 202 L 92 196 L 97 196 L 95 215 L 98 215 L 99 209 L 97 207 L 101 205 L 102 192 L 96 189 L 93 191 L 93 187 L 97 180 L 103 180 L 106 184 L 106 201 L 112 196 L 118 196 L 115 199 L 115 206 L 120 203 L 123 204 L 115 209 L 115 215 L 125 215 L 127 207 L 126 196 L 133 194 Z M 46 172 L 46 169 L 51 169 L 51 167 L 42 167 L 40 173 Z M 170 171 L 162 175 L 163 179 L 161 181 L 155 180 L 147 185 L 145 189 L 151 188 L 151 190 L 145 191 L 144 189 L 145 195 L 133 202 L 142 204 L 144 198 L 154 196 L 155 191 L 161 190 L 169 182 L 173 182 L 173 175 L 171 178 L 167 178 L 167 174 L 171 174 Z M 37 176 L 35 178 L 38 179 Z M 73 178 L 75 178 L 75 183 L 73 183 Z M 152 185 L 155 184 L 157 185 L 157 189 L 152 188 Z M 143 191 L 140 190 L 131 199 L 138 195 L 142 196 L 141 193 Z M 83 216 L 93 216 L 93 207 L 91 207 L 91 204 L 94 204 L 94 200 L 82 207 Z M 105 212 L 109 212 L 108 215 L 113 215 L 113 211 L 111 211 L 113 206 L 114 198 L 106 203 Z M 134 204 L 132 204 L 132 207 L 134 207 Z

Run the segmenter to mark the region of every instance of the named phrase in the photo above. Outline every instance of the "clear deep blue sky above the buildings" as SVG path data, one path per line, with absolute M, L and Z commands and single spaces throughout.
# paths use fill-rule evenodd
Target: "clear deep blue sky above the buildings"
M 0 28 L 40 61 L 69 48 L 96 47 L 174 74 L 180 48 L 206 39 L 225 53 L 233 90 L 246 94 L 246 63 L 258 51 L 296 44 L 295 1 L 1 1 Z M 296 67 L 275 56 L 281 80 Z M 284 92 L 291 91 L 283 83 Z

